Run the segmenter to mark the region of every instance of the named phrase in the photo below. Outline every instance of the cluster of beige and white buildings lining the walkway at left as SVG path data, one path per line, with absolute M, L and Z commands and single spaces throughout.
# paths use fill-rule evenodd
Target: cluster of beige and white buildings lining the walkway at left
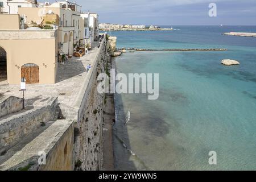
M 0 0 L 0 79 L 54 84 L 57 62 L 99 38 L 98 14 L 76 3 Z

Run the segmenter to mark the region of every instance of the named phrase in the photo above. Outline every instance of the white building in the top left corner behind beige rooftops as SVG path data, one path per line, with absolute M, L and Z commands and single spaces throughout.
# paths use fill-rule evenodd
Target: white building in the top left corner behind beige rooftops
M 18 14 L 18 7 L 43 7 L 36 0 L 0 0 L 0 11 L 6 14 Z

